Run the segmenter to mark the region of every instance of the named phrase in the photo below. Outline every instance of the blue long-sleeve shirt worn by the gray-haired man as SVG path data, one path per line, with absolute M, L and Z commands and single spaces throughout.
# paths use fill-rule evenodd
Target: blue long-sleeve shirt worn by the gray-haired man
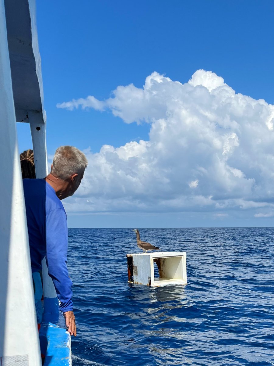
M 66 266 L 68 252 L 68 225 L 66 212 L 54 189 L 44 179 L 23 179 L 31 270 L 42 269 L 46 256 L 49 276 L 52 278 L 59 309 L 73 310 L 72 281 Z

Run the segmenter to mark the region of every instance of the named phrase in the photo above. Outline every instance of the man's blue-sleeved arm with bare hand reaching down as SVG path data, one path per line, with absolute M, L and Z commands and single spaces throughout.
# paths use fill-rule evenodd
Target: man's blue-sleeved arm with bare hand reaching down
M 66 266 L 68 253 L 68 225 L 64 210 L 55 209 L 46 216 L 46 262 L 53 280 L 57 297 L 64 313 L 69 333 L 76 336 L 75 316 L 72 303 L 72 281 Z

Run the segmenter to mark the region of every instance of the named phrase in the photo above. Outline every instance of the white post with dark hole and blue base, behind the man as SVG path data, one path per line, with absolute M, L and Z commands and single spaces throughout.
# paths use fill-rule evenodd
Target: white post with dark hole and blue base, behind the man
M 46 118 L 41 120 L 40 113 L 28 113 L 31 137 L 33 140 L 33 152 L 36 178 L 45 178 L 48 174 L 47 149 L 46 149 Z M 45 121 L 45 123 L 44 123 Z M 42 261 L 42 277 L 44 292 L 44 314 L 48 321 L 58 320 L 58 299 L 52 279 L 46 265 L 46 259 Z

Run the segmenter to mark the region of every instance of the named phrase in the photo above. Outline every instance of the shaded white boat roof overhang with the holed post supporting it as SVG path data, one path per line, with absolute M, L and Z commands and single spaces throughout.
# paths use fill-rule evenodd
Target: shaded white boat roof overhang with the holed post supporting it
M 48 172 L 46 113 L 43 109 L 41 57 L 38 47 L 35 0 L 5 0 L 5 18 L 16 122 L 29 123 L 33 141 L 35 173 Z M 58 317 L 58 299 L 43 261 L 44 311 Z

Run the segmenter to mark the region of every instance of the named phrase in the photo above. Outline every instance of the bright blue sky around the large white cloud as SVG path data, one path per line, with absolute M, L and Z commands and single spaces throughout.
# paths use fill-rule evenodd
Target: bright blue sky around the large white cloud
M 131 83 L 142 90 L 145 79 L 154 71 L 182 84 L 187 83 L 199 69 L 212 71 L 236 93 L 273 104 L 273 11 L 274 3 L 271 1 L 38 0 L 37 26 L 49 155 L 60 145 L 74 145 L 81 150 L 90 148 L 89 157 L 94 161 L 94 158 L 98 158 L 94 154 L 99 153 L 103 145 L 117 148 L 131 141 L 139 143 L 140 139 L 150 141 L 149 133 L 155 116 L 148 115 L 147 122 L 143 122 L 141 113 L 140 123 L 137 124 L 125 119 L 125 113 L 128 113 L 125 112 L 125 106 L 119 105 L 122 112 L 120 117 L 115 116 L 117 104 L 116 109 L 107 104 L 101 111 L 92 106 L 83 110 L 79 105 L 78 109 L 68 110 L 57 108 L 56 105 L 89 95 L 105 101 L 113 98 L 113 91 L 118 86 Z M 156 89 L 155 92 L 162 91 Z M 134 109 L 134 105 L 131 108 Z M 132 118 L 137 120 L 138 114 L 135 113 Z M 263 118 L 262 115 L 261 123 L 264 123 Z M 31 144 L 28 126 L 18 126 L 18 134 L 20 150 L 27 149 Z M 187 157 L 184 156 L 184 159 Z M 193 159 L 195 165 L 197 162 L 195 157 Z M 111 164 L 116 164 L 117 171 L 120 171 L 120 163 Z M 233 164 L 232 168 L 243 172 L 246 179 L 254 179 L 253 193 L 254 187 L 261 187 L 261 181 L 267 179 L 261 174 L 259 184 L 259 173 L 254 173 L 254 176 L 251 173 L 254 167 L 246 172 L 241 162 L 234 159 Z M 95 165 L 91 163 L 91 167 L 98 168 L 98 164 Z M 209 167 L 205 169 L 208 172 L 210 170 Z M 267 169 L 271 169 L 271 166 L 267 166 Z M 186 174 L 183 173 L 175 178 L 169 176 L 167 180 L 175 181 L 184 176 Z M 88 178 L 90 185 L 88 182 L 85 184 L 85 192 L 82 188 L 76 201 L 69 202 L 67 212 L 71 227 L 273 225 L 272 206 L 262 205 L 271 201 L 268 188 L 265 188 L 264 194 L 255 194 L 255 201 L 260 202 L 257 207 L 249 205 L 243 209 L 243 204 L 239 202 L 222 206 L 220 199 L 252 201 L 251 193 L 246 190 L 233 196 L 231 188 L 224 188 L 227 185 L 223 185 L 222 189 L 216 188 L 218 194 L 217 191 L 211 194 L 207 190 L 197 195 L 213 195 L 215 203 L 219 200 L 217 206 L 209 207 L 196 200 L 195 205 L 187 209 L 182 202 L 176 209 L 174 205 L 163 204 L 159 210 L 156 199 L 153 205 L 147 207 L 148 198 L 144 194 L 136 197 L 126 187 L 123 187 L 123 197 L 120 183 L 116 186 L 117 192 L 120 189 L 119 194 L 109 186 L 104 186 L 101 192 L 95 192 L 91 187 L 91 171 Z M 196 180 L 202 181 L 194 177 L 193 182 Z M 153 181 L 148 184 L 149 189 L 153 190 Z M 183 195 L 187 199 L 193 193 L 186 190 Z M 91 209 L 83 205 L 84 201 L 91 201 L 88 197 L 96 197 Z M 107 201 L 100 201 L 100 197 L 105 197 Z M 125 197 L 128 199 L 126 202 L 137 202 L 138 208 L 135 209 L 134 204 L 127 206 L 123 201 Z M 118 198 L 121 202 L 113 205 L 113 200 L 117 201 Z M 159 191 L 159 200 L 167 199 L 171 198 L 164 197 L 164 191 Z M 77 203 L 74 204 L 75 208 L 73 202 Z M 220 211 L 220 208 L 224 210 Z

